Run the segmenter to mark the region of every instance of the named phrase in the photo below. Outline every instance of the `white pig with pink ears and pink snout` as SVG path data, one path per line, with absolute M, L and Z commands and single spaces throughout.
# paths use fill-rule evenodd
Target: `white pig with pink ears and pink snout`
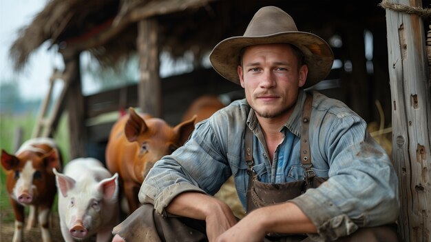
M 96 241 L 111 241 L 118 224 L 118 174 L 101 161 L 78 158 L 70 161 L 63 174 L 53 169 L 59 194 L 61 234 L 66 242 L 96 235 Z

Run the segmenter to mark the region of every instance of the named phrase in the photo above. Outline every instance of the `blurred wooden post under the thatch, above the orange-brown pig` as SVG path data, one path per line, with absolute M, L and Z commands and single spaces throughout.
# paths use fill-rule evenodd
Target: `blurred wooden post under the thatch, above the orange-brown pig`
M 158 22 L 156 19 L 143 19 L 138 22 L 136 46 L 140 58 L 139 107 L 143 112 L 162 117 L 162 85 L 159 76 Z

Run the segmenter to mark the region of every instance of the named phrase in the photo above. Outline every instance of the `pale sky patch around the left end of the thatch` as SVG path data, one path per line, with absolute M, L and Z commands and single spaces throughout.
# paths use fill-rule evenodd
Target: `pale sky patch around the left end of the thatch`
M 53 68 L 64 66 L 55 48 L 48 50 L 48 43 L 37 49 L 19 72 L 13 70 L 10 60 L 9 49 L 18 37 L 18 30 L 28 26 L 46 3 L 45 0 L 0 0 L 0 82 L 17 81 L 21 97 L 25 99 L 45 97 Z

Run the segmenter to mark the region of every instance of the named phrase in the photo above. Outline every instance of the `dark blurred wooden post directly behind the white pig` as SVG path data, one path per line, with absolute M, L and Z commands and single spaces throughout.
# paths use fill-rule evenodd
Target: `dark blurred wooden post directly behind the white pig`
M 66 109 L 69 114 L 70 159 L 86 157 L 85 105 L 81 88 L 79 52 L 62 53 L 65 62 L 65 83 L 69 83 Z

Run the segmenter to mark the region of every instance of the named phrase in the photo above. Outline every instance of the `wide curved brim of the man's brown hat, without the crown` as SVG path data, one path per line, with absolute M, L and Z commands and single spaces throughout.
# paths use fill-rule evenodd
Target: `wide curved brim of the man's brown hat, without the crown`
M 240 51 L 247 46 L 268 43 L 291 43 L 304 53 L 308 75 L 304 88 L 309 88 L 325 79 L 332 68 L 334 55 L 328 43 L 308 32 L 280 32 L 265 36 L 231 37 L 224 39 L 213 48 L 209 61 L 222 77 L 240 84 L 237 67 Z

